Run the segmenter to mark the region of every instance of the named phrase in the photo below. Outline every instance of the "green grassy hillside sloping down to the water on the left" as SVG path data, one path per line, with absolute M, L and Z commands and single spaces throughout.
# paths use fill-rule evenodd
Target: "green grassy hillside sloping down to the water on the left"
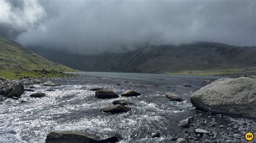
M 42 74 L 39 71 L 42 69 L 52 70 L 52 72 Z M 52 77 L 63 75 L 63 73 L 58 73 L 57 71 L 76 70 L 46 60 L 17 42 L 0 36 L 0 76 L 15 79 L 23 76 Z

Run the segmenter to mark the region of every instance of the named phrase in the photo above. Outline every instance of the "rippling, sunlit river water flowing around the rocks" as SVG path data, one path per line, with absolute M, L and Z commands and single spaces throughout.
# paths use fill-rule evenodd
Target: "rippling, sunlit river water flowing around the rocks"
M 78 130 L 105 135 L 118 134 L 122 141 L 172 141 L 180 134 L 178 121 L 194 116 L 196 111 L 190 95 L 203 87 L 204 80 L 217 76 L 171 76 L 131 73 L 76 73 L 84 76 L 52 80 L 57 87 L 35 85 L 46 94 L 31 98 L 25 92 L 18 101 L 7 99 L 0 103 L 0 142 L 44 142 L 51 130 Z M 184 87 L 190 84 L 192 87 Z M 133 103 L 127 113 L 111 115 L 100 112 L 116 99 L 97 99 L 91 88 L 102 87 L 119 95 L 136 90 L 138 97 L 119 97 Z M 55 91 L 46 91 L 54 89 Z M 171 102 L 164 94 L 174 92 L 185 99 Z M 21 103 L 21 100 L 28 101 Z M 151 139 L 159 131 L 160 138 Z

